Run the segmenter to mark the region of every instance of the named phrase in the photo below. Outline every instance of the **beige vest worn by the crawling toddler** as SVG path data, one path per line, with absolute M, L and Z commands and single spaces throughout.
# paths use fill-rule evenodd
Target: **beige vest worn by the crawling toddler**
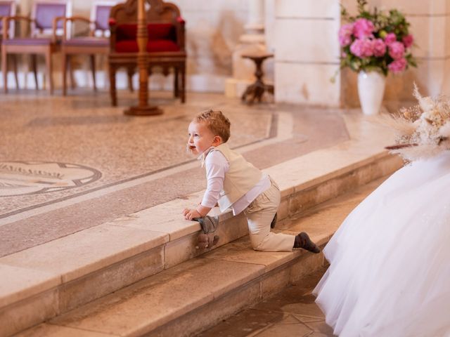
M 229 162 L 229 171 L 225 173 L 224 189 L 220 192 L 219 208 L 223 212 L 240 197 L 250 191 L 262 178 L 262 171 L 250 164 L 238 152 L 224 143 L 210 151 L 220 151 Z

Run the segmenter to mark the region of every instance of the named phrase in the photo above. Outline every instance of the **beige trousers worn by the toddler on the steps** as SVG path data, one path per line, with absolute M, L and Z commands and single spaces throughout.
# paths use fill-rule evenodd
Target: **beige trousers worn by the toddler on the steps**
M 295 235 L 274 233 L 270 224 L 280 205 L 278 185 L 271 179 L 271 186 L 259 194 L 244 210 L 248 221 L 250 242 L 255 251 L 292 251 Z

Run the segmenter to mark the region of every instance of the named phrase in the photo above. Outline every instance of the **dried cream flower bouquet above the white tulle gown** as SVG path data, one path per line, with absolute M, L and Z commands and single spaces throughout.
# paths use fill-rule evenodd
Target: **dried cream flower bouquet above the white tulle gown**
M 386 147 L 408 161 L 434 157 L 450 150 L 450 103 L 443 96 L 422 97 L 414 86 L 418 105 L 402 109 L 388 121 L 397 131 L 396 145 Z

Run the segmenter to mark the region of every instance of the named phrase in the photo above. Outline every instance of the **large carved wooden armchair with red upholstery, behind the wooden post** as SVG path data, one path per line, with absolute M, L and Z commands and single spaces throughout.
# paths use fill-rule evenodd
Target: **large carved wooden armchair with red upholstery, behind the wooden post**
M 174 96 L 186 100 L 186 51 L 184 48 L 184 20 L 179 8 L 162 0 L 146 0 L 148 27 L 148 73 L 151 68 L 162 67 L 163 74 L 174 68 Z M 137 0 L 117 4 L 110 13 L 110 95 L 113 106 L 117 105 L 115 74 L 125 67 L 130 72 L 136 69 L 139 51 L 137 34 Z

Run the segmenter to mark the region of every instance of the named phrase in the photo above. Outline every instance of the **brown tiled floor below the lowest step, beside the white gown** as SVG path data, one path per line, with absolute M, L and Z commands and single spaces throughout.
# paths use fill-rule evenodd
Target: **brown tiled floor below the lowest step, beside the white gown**
M 197 337 L 331 337 L 311 294 L 325 270 L 267 298 L 252 308 L 238 312 Z

